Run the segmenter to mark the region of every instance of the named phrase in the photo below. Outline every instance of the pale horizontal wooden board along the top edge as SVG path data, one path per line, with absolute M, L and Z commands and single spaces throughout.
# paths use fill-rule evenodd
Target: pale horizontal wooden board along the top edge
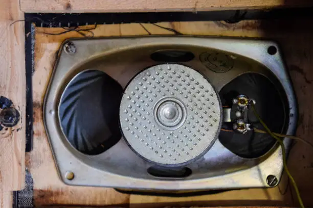
M 310 0 L 21 0 L 24 12 L 161 12 L 267 9 L 313 6 Z

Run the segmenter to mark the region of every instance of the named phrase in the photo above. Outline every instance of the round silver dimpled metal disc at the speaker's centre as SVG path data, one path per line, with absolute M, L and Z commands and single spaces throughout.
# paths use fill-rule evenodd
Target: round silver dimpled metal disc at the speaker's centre
M 161 64 L 128 83 L 120 124 L 129 146 L 144 159 L 164 166 L 184 165 L 216 140 L 221 102 L 202 74 L 179 64 Z

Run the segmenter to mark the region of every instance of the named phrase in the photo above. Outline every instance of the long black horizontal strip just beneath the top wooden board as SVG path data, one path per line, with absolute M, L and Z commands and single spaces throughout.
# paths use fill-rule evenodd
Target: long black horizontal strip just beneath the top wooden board
M 88 24 L 157 23 L 174 21 L 222 21 L 236 23 L 248 19 L 312 18 L 312 7 L 190 12 L 125 13 L 25 13 L 25 20 L 37 27 L 74 27 Z

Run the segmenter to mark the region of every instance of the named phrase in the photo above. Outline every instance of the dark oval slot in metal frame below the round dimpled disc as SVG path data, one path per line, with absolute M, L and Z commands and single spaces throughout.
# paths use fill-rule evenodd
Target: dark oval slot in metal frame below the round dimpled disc
M 192 170 L 187 167 L 163 167 L 154 165 L 148 168 L 148 173 L 155 177 L 184 178 L 192 174 Z

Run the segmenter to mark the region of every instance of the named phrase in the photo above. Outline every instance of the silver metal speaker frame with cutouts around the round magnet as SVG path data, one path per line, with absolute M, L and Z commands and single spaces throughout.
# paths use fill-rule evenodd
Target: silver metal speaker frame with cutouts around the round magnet
M 270 47 L 276 53 L 268 53 Z M 294 134 L 297 121 L 295 94 L 281 56 L 273 41 L 201 36 L 149 36 L 66 40 L 44 100 L 44 124 L 59 176 L 76 186 L 101 186 L 145 190 L 214 190 L 271 187 L 266 178 L 280 180 L 283 171 L 281 147 L 276 144 L 258 158 L 242 158 L 216 140 L 202 157 L 187 164 L 192 170 L 183 178 L 156 177 L 147 172 L 154 164 L 133 152 L 121 138 L 106 151 L 88 155 L 66 139 L 59 119 L 61 96 L 71 80 L 86 70 L 100 70 L 113 77 L 123 88 L 141 70 L 171 62 L 151 57 L 158 51 L 189 51 L 194 57 L 183 64 L 206 76 L 219 92 L 223 86 L 245 73 L 266 76 L 285 103 L 286 134 Z M 162 54 L 161 54 L 162 55 Z M 154 60 L 153 60 L 153 59 Z M 286 150 L 291 141 L 284 139 Z M 68 172 L 74 177 L 66 177 Z

